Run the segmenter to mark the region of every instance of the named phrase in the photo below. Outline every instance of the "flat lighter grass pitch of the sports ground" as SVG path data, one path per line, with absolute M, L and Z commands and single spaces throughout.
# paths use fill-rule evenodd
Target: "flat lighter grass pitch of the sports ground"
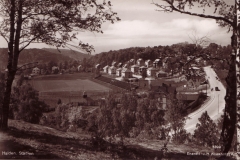
M 40 92 L 57 91 L 103 91 L 107 92 L 110 88 L 95 83 L 88 79 L 75 80 L 32 80 L 32 86 Z

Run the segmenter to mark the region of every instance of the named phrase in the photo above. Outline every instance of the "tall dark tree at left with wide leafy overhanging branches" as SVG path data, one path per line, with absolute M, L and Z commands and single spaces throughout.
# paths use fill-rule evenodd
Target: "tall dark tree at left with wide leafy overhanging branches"
M 111 3 L 97 0 L 0 0 L 0 35 L 8 43 L 8 74 L 5 82 L 0 129 L 7 130 L 12 82 L 18 58 L 31 43 L 73 47 L 78 32 L 102 32 L 101 25 L 119 20 Z M 87 52 L 93 47 L 81 41 L 75 46 Z

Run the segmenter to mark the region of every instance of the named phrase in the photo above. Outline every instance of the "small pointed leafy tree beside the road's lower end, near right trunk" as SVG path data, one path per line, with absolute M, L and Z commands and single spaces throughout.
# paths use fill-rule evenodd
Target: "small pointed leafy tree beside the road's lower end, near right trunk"
M 207 111 L 204 112 L 198 120 L 199 123 L 197 123 L 196 130 L 193 135 L 196 142 L 209 147 L 217 145 L 220 134 L 218 132 L 217 125 L 209 117 Z

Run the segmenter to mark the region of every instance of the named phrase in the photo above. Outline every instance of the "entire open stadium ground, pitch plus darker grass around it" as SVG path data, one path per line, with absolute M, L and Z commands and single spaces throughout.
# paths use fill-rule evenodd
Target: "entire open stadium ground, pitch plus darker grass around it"
M 111 87 L 98 84 L 91 80 L 89 73 L 46 75 L 34 77 L 29 83 L 39 91 L 39 98 L 54 107 L 61 99 L 63 103 L 83 102 L 82 96 L 86 92 L 88 97 L 102 98 Z

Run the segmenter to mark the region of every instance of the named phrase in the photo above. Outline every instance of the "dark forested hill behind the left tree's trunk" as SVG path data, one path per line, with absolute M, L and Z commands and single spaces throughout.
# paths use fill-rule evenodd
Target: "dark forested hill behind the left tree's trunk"
M 0 68 L 4 69 L 7 66 L 8 49 L 0 48 Z M 20 53 L 18 64 L 26 64 L 30 62 L 48 63 L 73 61 L 69 56 L 48 52 L 43 49 L 25 49 Z

